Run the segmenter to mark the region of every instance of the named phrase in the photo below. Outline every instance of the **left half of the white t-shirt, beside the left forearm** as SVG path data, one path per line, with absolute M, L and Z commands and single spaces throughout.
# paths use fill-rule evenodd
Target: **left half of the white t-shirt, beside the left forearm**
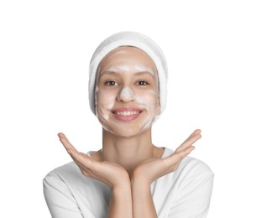
M 105 212 L 106 185 L 81 174 L 73 161 L 46 174 L 43 188 L 53 217 L 100 217 Z

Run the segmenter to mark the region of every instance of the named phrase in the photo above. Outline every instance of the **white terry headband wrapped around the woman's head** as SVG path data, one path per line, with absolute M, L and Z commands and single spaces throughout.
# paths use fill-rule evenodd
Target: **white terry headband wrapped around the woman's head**
M 157 44 L 149 37 L 144 34 L 136 32 L 120 32 L 113 34 L 97 47 L 94 54 L 91 57 L 90 62 L 90 79 L 89 79 L 89 101 L 91 112 L 95 112 L 95 86 L 97 78 L 97 68 L 101 60 L 110 52 L 112 49 L 116 49 L 119 46 L 133 46 L 138 49 L 144 50 L 149 57 L 154 61 L 154 65 L 158 70 L 159 75 L 159 101 L 161 105 L 161 113 L 165 110 L 166 95 L 167 95 L 167 79 L 168 70 L 165 60 L 165 55 Z

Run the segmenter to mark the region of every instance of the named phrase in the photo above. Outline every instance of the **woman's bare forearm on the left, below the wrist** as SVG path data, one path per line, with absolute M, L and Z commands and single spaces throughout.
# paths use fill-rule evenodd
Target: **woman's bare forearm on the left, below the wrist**
M 119 187 L 113 187 L 108 209 L 108 218 L 132 218 L 133 204 L 130 183 L 124 183 Z

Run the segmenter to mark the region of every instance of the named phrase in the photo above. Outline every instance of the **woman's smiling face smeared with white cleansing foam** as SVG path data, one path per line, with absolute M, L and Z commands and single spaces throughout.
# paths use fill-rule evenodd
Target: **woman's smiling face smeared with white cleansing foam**
M 123 137 L 151 127 L 160 113 L 158 75 L 143 50 L 118 47 L 97 70 L 96 115 L 108 132 Z

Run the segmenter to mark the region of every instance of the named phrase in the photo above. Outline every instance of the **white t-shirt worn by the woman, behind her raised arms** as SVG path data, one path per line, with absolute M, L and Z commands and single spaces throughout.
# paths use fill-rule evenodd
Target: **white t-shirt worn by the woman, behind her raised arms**
M 165 148 L 162 158 L 173 153 Z M 90 154 L 90 153 L 89 153 Z M 44 198 L 53 218 L 105 218 L 111 191 L 106 184 L 81 174 L 76 163 L 54 169 L 44 178 Z M 212 170 L 185 157 L 175 172 L 151 184 L 159 218 L 206 217 L 212 195 Z

